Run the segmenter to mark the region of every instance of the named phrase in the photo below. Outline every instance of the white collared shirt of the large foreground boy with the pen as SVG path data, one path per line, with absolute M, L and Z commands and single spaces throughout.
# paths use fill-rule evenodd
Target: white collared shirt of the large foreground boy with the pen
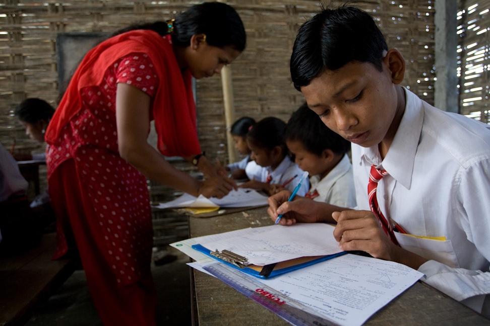
M 370 168 L 382 167 L 389 173 L 377 190 L 383 214 L 407 233 L 446 239 L 395 232 L 402 248 L 430 259 L 418 269 L 423 280 L 485 313 L 490 306 L 490 131 L 406 89 L 405 94 L 405 113 L 383 160 L 377 145 L 352 144 L 357 208 L 370 210 Z

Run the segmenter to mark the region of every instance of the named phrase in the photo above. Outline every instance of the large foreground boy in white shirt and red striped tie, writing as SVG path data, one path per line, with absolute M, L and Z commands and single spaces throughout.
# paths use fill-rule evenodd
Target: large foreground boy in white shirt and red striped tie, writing
M 269 198 L 271 218 L 336 221 L 342 250 L 417 269 L 490 316 L 490 131 L 402 87 L 403 56 L 354 7 L 327 8 L 304 23 L 290 70 L 310 109 L 352 142 L 359 210 L 286 202 L 283 191 Z

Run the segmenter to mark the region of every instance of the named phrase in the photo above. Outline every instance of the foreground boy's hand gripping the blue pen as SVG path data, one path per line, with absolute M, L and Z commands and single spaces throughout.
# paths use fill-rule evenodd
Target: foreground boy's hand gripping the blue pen
M 322 203 L 300 196 L 295 196 L 292 201 L 288 202 L 290 196 L 291 192 L 284 190 L 267 199 L 269 203 L 267 213 L 273 221 L 280 214 L 284 214 L 279 221 L 281 225 L 292 225 L 296 222 L 315 223 L 325 220 L 324 216 L 319 214 L 322 210 L 318 206 Z

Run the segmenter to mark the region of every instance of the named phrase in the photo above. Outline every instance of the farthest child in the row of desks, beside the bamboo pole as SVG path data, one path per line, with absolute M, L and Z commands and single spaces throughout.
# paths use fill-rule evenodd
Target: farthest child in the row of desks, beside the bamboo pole
M 242 117 L 231 125 L 230 133 L 236 150 L 241 155 L 247 155 L 242 160 L 227 165 L 226 170 L 231 172 L 231 178 L 233 179 L 242 180 L 247 178 L 245 167 L 247 167 L 247 164 L 250 162 L 251 158 L 250 148 L 249 145 L 247 145 L 246 136 L 254 124 L 254 119 L 250 117 Z

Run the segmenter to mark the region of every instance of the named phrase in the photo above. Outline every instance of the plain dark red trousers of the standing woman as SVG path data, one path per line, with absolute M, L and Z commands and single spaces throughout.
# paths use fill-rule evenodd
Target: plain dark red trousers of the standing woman
M 49 196 L 58 230 L 65 231 L 68 247 L 76 245 L 97 311 L 105 326 L 155 325 L 156 290 L 150 264 L 140 280 L 118 286 L 106 254 L 104 235 L 94 208 L 69 159 L 49 178 Z M 72 238 L 74 237 L 74 239 Z M 73 242 L 73 243 L 72 243 Z

